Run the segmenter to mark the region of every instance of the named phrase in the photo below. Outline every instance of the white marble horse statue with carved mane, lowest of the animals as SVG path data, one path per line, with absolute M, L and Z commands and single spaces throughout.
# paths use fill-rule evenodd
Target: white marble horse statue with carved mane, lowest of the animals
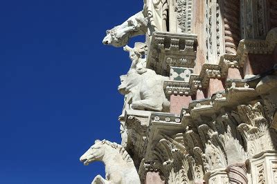
M 117 143 L 96 140 L 80 161 L 89 165 L 94 161 L 105 163 L 106 179 L 96 176 L 91 184 L 140 184 L 139 174 L 127 151 Z

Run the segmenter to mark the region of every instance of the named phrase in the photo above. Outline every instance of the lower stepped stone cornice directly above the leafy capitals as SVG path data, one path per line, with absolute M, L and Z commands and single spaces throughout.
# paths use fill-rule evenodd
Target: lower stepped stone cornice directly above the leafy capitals
M 267 72 L 267 75 L 277 75 L 277 68 Z M 256 90 L 256 85 L 260 82 L 265 74 L 260 77 L 255 76 L 247 80 L 229 80 L 233 85 L 226 88 L 226 92 L 213 95 L 209 99 L 202 99 L 190 103 L 189 108 L 184 108 L 181 115 L 167 113 L 152 113 L 148 127 L 148 143 L 145 150 L 145 159 L 152 160 L 152 150 L 161 139 L 167 136 L 175 136 L 186 130 L 186 127 L 202 122 L 202 117 L 213 119 L 215 114 L 224 111 L 224 109 L 233 109 L 238 105 L 245 104 L 249 101 L 260 99 L 260 93 Z M 235 85 L 239 83 L 239 85 Z M 181 122 L 179 122 L 181 119 Z M 168 137 L 167 137 L 168 140 Z M 173 143 L 174 144 L 174 143 Z

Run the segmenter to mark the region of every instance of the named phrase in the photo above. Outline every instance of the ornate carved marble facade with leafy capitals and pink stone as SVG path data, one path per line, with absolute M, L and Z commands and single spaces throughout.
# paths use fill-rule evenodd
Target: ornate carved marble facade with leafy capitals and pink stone
M 136 169 L 126 177 L 277 183 L 276 0 L 142 3 L 103 40 L 123 47 L 145 35 L 145 43 L 125 46 L 132 64 L 118 86 L 120 147 Z

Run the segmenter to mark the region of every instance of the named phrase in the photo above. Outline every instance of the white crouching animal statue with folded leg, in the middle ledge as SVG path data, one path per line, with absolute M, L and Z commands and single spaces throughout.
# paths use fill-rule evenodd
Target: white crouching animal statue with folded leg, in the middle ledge
M 163 92 L 163 81 L 168 77 L 145 69 L 143 74 L 131 70 L 128 74 L 120 76 L 120 79 L 118 91 L 121 94 L 132 93 L 132 109 L 168 112 L 170 104 Z

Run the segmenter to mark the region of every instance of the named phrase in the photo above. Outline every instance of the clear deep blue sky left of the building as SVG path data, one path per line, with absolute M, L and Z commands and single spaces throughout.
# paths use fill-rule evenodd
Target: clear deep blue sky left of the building
M 130 61 L 102 38 L 142 8 L 143 0 L 0 2 L 0 183 L 105 176 L 102 163 L 79 157 L 95 139 L 120 143 L 117 86 Z

